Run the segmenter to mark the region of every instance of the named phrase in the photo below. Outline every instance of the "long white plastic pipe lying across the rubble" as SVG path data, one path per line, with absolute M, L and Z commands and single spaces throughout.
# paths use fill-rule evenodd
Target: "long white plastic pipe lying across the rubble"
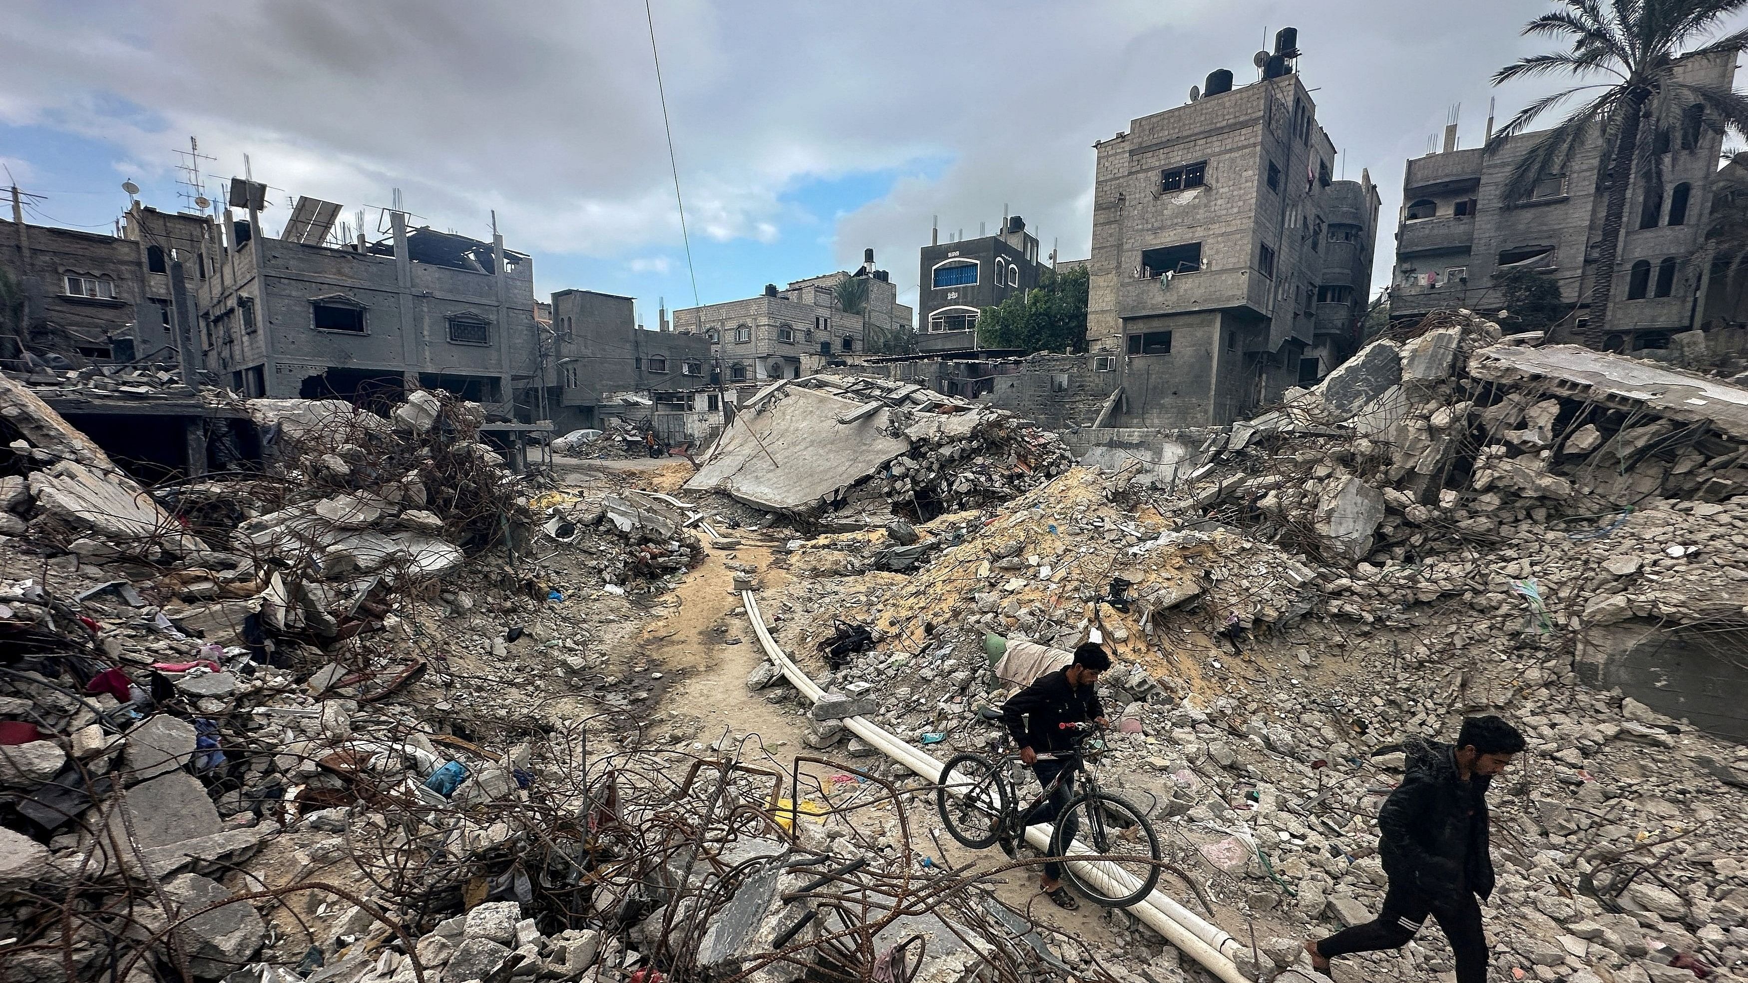
M 788 679 L 795 690 L 809 700 L 820 702 L 825 690 L 808 677 L 799 665 L 790 662 L 788 655 L 785 655 L 776 644 L 776 639 L 771 637 L 771 629 L 766 627 L 764 615 L 759 613 L 759 599 L 753 597 L 753 592 L 741 592 L 741 599 L 746 604 L 746 618 L 752 622 L 753 634 L 759 636 L 759 644 L 764 648 L 766 656 L 771 658 L 780 670 L 783 670 L 783 677 Z M 867 718 L 844 718 L 839 723 L 850 728 L 850 732 L 862 740 L 867 740 L 872 747 L 879 749 L 881 754 L 898 761 L 930 782 L 940 782 L 940 770 L 944 768 L 944 763 L 937 761 L 933 756 L 905 744 L 904 740 L 898 740 Z M 1049 850 L 1051 826 L 1047 822 L 1028 826 L 1026 842 L 1038 850 Z M 1087 850 L 1077 842 L 1068 852 L 1073 856 L 1086 854 Z M 1138 887 L 1138 882 L 1133 876 L 1110 863 L 1070 863 L 1075 866 L 1077 875 L 1091 880 L 1101 890 L 1110 894 L 1127 894 Z M 1238 939 L 1218 925 L 1199 918 L 1194 911 L 1178 904 L 1171 897 L 1166 897 L 1159 890 L 1150 892 L 1147 897 L 1134 903 L 1129 908 L 1129 913 L 1159 932 L 1168 943 L 1176 946 L 1178 952 L 1183 952 L 1225 983 L 1253 983 L 1239 973 L 1238 964 L 1232 962 L 1232 957 L 1243 950 Z M 1290 978 L 1292 974 L 1287 976 Z

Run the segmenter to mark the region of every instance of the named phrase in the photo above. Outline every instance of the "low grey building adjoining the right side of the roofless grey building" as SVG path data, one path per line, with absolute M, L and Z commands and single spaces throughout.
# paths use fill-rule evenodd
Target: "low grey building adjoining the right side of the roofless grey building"
M 626 416 L 622 395 L 647 398 L 650 423 L 668 443 L 703 440 L 694 414 L 722 409 L 711 381 L 711 346 L 697 333 L 643 330 L 636 300 L 594 290 L 552 293 L 554 344 L 545 372 L 549 417 L 559 433 L 605 430 L 607 417 Z

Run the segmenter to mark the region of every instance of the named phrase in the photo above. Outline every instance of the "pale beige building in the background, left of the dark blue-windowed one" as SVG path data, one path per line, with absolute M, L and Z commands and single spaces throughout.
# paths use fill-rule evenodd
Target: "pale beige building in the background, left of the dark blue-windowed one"
M 837 286 L 846 278 L 867 283 L 860 311 L 843 307 Z M 860 354 L 871 339 L 909 332 L 911 307 L 898 304 L 891 276 L 874 267 L 874 250 L 867 250 L 855 272 L 811 276 L 783 290 L 767 283 L 759 297 L 682 307 L 673 330 L 710 339 L 711 372 L 732 386 L 799 379 L 808 365 Z

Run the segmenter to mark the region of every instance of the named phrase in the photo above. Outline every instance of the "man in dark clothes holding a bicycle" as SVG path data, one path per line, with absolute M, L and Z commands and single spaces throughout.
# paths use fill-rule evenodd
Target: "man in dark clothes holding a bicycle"
M 1014 744 L 1019 746 L 1019 760 L 1031 766 L 1042 787 L 1051 787 L 1056 775 L 1068 766 L 1068 761 L 1058 760 L 1056 754 L 1073 749 L 1073 737 L 1059 725 L 1092 721 L 1103 726 L 1108 723 L 1105 719 L 1105 707 L 1099 705 L 1098 693 L 1094 691 L 1098 674 L 1106 669 L 1110 669 L 1110 655 L 1105 648 L 1098 643 L 1086 643 L 1075 650 L 1073 662 L 1056 672 L 1038 676 L 1030 686 L 1002 705 L 1002 723 L 1007 725 L 1009 733 L 1014 735 Z M 1033 826 L 1056 819 L 1063 807 L 1068 805 L 1068 800 L 1073 798 L 1073 775 L 1068 775 L 1047 801 L 1026 815 L 1024 824 Z M 1072 814 L 1063 822 L 1063 835 L 1072 843 L 1077 822 Z M 1012 850 L 1009 852 L 1012 856 Z M 1061 876 L 1063 864 L 1047 863 L 1044 864 L 1040 887 L 1044 889 L 1044 896 L 1059 908 L 1073 911 L 1080 908 L 1080 903 L 1063 887 Z

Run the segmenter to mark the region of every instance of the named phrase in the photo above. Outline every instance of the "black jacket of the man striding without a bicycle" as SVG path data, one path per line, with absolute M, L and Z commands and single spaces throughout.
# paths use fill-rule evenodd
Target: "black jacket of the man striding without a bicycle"
M 1456 749 L 1437 740 L 1405 742 L 1407 775 L 1377 810 L 1377 852 L 1393 882 L 1432 899 L 1454 901 L 1474 890 L 1493 894 L 1488 852 L 1488 786 L 1493 779 L 1458 777 Z

